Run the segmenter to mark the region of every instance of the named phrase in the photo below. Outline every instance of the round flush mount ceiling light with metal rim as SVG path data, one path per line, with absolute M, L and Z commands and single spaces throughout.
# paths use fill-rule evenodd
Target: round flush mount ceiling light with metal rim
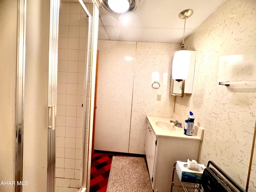
M 102 0 L 102 5 L 106 10 L 115 14 L 124 14 L 134 11 L 139 4 L 139 0 Z

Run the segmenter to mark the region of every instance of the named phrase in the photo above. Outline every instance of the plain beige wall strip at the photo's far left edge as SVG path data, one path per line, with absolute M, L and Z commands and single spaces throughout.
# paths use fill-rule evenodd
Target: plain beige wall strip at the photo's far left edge
M 15 180 L 17 1 L 0 2 L 0 182 Z M 15 186 L 0 186 L 14 191 Z

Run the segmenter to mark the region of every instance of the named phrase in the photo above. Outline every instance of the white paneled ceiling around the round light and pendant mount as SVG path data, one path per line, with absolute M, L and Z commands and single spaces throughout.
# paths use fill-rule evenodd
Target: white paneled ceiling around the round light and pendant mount
M 225 0 L 140 0 L 138 8 L 117 15 L 100 6 L 98 40 L 180 43 L 184 19 L 178 14 L 194 11 L 186 19 L 185 38 L 195 30 Z

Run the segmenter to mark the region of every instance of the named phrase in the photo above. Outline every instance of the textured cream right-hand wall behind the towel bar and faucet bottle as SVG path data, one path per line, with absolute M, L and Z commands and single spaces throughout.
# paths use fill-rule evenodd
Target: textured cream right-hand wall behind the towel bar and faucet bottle
M 205 128 L 200 162 L 216 162 L 244 188 L 256 88 L 255 84 L 221 86 L 218 80 L 256 79 L 255 8 L 255 0 L 226 0 L 185 40 L 188 49 L 197 51 L 193 94 L 177 97 L 175 105 L 175 113 L 186 118 L 191 110 L 196 124 Z M 256 189 L 253 168 L 249 191 Z

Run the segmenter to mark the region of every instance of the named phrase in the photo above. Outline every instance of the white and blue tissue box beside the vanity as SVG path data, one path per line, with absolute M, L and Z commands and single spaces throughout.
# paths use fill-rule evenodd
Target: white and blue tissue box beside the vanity
M 176 172 L 180 181 L 189 182 L 189 183 L 199 183 L 200 180 L 202 179 L 202 174 L 204 170 L 202 171 L 189 170 L 184 166 L 185 164 L 188 164 L 188 162 L 183 162 L 183 161 L 176 162 Z M 198 165 L 203 169 L 206 168 L 204 164 L 198 163 Z

